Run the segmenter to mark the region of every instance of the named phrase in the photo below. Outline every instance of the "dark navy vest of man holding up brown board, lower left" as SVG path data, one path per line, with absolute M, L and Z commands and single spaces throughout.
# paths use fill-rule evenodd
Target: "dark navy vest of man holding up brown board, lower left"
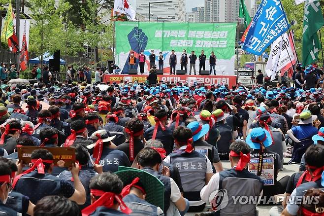
M 61 194 L 61 180 L 48 173 L 38 174 L 36 170 L 22 176 L 16 183 L 15 191 L 28 196 L 32 203 L 45 196 Z

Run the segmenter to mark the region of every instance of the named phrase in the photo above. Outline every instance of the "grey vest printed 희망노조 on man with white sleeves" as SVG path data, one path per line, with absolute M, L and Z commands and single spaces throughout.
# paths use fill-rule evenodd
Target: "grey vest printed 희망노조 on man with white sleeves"
M 189 201 L 200 201 L 200 191 L 205 186 L 207 158 L 197 151 L 187 153 L 175 150 L 169 154 L 170 163 L 179 170 L 183 195 Z

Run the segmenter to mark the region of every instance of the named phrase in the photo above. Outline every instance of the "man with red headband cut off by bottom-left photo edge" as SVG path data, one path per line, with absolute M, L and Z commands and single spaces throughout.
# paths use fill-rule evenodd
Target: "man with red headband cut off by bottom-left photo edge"
M 5 205 L 11 188 L 11 169 L 9 165 L 0 162 L 0 213 L 5 216 L 17 216 L 18 213 Z

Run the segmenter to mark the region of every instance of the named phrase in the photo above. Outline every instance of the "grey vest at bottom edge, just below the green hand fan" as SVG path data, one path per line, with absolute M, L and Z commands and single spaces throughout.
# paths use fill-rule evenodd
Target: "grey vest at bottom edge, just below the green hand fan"
M 123 198 L 124 203 L 136 216 L 157 216 L 158 207 L 138 198 L 135 194 L 129 194 Z

